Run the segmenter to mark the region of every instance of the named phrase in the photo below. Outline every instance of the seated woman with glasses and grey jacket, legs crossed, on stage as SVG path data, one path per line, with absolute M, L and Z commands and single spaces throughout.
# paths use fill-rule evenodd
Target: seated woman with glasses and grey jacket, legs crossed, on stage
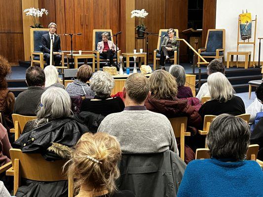
M 177 40 L 175 36 L 174 29 L 169 29 L 167 31 L 168 36 L 163 38 L 161 50 L 160 50 L 160 65 L 164 66 L 165 60 L 168 60 L 170 56 L 174 55 L 174 51 L 177 49 Z M 176 58 L 176 57 L 175 57 Z

